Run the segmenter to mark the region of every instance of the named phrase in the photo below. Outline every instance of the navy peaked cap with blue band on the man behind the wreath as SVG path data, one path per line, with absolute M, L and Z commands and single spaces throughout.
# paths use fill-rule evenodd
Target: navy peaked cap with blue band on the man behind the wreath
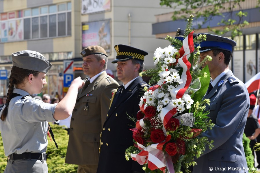
M 233 47 L 237 45 L 234 40 L 226 37 L 221 37 L 218 35 L 208 34 L 208 33 L 198 33 L 198 35 L 205 34 L 207 36 L 206 40 L 200 43 L 200 52 L 207 52 L 212 49 L 221 49 L 232 52 Z

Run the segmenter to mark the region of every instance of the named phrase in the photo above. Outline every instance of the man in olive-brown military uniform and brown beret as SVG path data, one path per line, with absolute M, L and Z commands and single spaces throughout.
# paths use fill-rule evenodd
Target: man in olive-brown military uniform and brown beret
M 70 137 L 65 163 L 78 165 L 78 173 L 96 173 L 99 142 L 112 93 L 119 84 L 105 72 L 107 54 L 100 46 L 81 51 L 83 72 L 89 77 L 79 90 L 70 121 Z

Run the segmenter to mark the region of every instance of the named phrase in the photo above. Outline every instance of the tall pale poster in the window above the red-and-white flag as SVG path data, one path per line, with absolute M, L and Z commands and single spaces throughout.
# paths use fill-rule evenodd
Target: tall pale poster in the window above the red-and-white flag
M 247 82 L 249 79 L 251 79 L 256 74 L 255 50 L 246 50 L 245 57 L 246 57 L 245 82 Z

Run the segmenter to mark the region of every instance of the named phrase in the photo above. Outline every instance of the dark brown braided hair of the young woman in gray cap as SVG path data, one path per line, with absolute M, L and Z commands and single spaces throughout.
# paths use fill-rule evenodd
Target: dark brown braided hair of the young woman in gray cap
M 16 66 L 12 66 L 11 74 L 9 77 L 9 85 L 8 85 L 8 93 L 6 98 L 6 104 L 5 108 L 3 109 L 3 112 L 1 114 L 0 119 L 2 121 L 5 121 L 7 113 L 8 113 L 8 105 L 12 98 L 12 93 L 14 90 L 14 86 L 17 87 L 18 84 L 24 84 L 26 82 L 27 77 L 29 74 L 33 74 L 34 76 L 38 76 L 40 72 L 36 72 L 33 70 L 23 69 Z

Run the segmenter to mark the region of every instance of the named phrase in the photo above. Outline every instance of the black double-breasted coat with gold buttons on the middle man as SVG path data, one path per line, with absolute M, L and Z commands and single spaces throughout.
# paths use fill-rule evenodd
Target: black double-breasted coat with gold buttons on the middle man
M 125 150 L 133 145 L 133 133 L 129 129 L 135 127 L 135 122 L 129 116 L 136 119 L 145 86 L 149 87 L 138 77 L 122 93 L 123 86 L 118 88 L 103 125 L 97 173 L 143 172 L 136 161 L 125 159 Z

